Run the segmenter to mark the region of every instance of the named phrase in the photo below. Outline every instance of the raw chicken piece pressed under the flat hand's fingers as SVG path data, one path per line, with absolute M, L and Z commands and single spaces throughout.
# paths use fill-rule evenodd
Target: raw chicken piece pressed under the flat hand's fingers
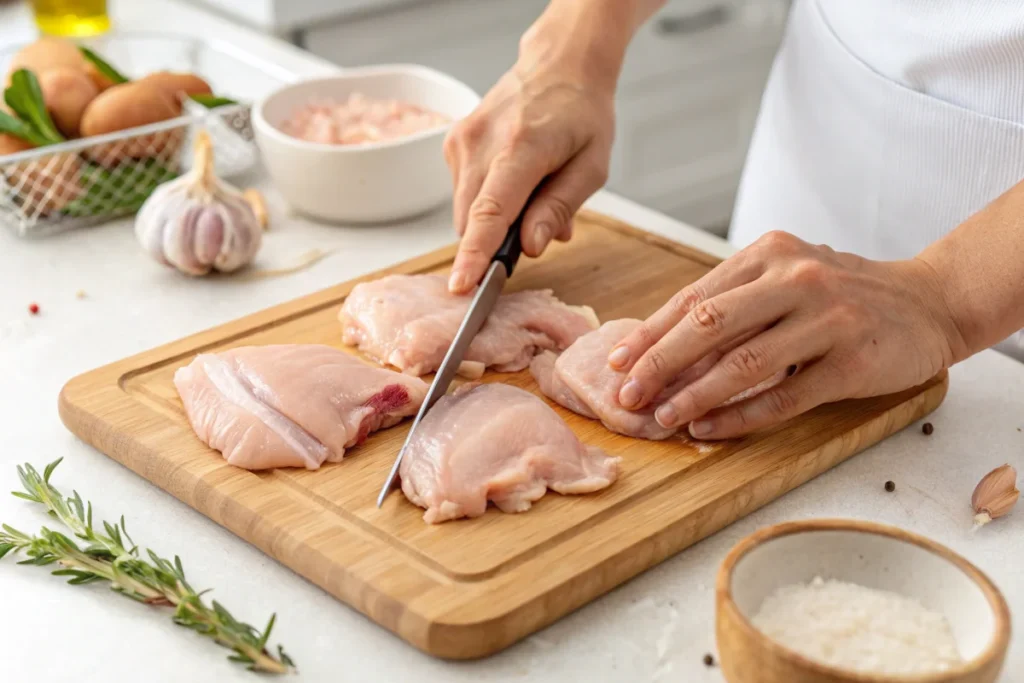
M 666 428 L 654 420 L 654 411 L 666 398 L 687 384 L 703 376 L 721 357 L 711 353 L 690 367 L 662 392 L 658 399 L 640 411 L 628 411 L 618 404 L 618 390 L 626 380 L 626 373 L 608 365 L 608 353 L 641 324 L 640 321 L 623 318 L 609 321 L 569 346 L 561 355 L 547 351 L 530 364 L 530 372 L 541 386 L 541 391 L 561 405 L 584 417 L 600 420 L 613 432 L 647 439 L 665 439 L 686 425 Z M 786 377 L 782 371 L 736 394 L 722 403 L 728 405 L 761 393 Z

